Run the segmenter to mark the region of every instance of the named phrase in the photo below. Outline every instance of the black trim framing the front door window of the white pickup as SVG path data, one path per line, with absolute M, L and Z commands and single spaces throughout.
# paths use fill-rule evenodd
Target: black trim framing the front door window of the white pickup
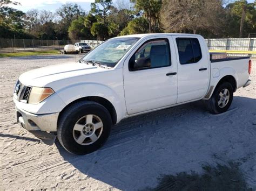
M 159 67 L 154 67 L 154 68 L 140 68 L 140 69 L 134 69 L 131 67 L 133 60 L 135 60 L 135 54 L 147 43 L 150 43 L 152 41 L 166 41 L 167 46 L 168 46 L 168 50 L 169 50 L 169 65 L 168 66 L 159 66 Z M 170 43 L 169 43 L 169 39 L 167 38 L 157 38 L 157 39 L 150 39 L 145 41 L 145 43 L 143 43 L 137 50 L 136 52 L 133 53 L 133 55 L 131 56 L 130 60 L 129 60 L 129 64 L 128 64 L 128 68 L 130 72 L 133 71 L 139 71 L 139 70 L 145 70 L 145 69 L 155 69 L 155 68 L 163 68 L 163 67 L 169 67 L 172 65 L 172 61 L 171 61 L 171 48 L 170 48 Z

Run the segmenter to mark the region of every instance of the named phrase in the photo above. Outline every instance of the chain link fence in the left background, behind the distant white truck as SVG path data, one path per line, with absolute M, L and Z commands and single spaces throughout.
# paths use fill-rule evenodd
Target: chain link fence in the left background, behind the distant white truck
M 98 40 L 0 39 L 0 53 L 59 50 L 64 49 L 65 45 L 75 43 L 87 43 L 94 48 L 102 42 Z

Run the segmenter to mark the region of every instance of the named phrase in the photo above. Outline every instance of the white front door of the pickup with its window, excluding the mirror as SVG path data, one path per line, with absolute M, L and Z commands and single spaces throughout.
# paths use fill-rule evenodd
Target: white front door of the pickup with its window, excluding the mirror
M 144 40 L 125 60 L 124 90 L 129 115 L 176 104 L 178 90 L 177 64 L 172 38 Z M 131 70 L 129 60 L 149 58 L 151 67 Z

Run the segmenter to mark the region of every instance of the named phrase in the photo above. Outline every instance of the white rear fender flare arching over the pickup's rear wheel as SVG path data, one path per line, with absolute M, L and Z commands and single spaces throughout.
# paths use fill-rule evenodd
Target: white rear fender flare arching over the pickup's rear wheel
M 207 98 L 204 98 L 204 100 L 208 100 L 211 98 L 213 91 L 215 90 L 217 84 L 225 76 L 233 76 L 235 79 L 236 86 L 237 86 L 238 75 L 235 72 L 234 68 L 231 68 L 231 67 L 224 67 L 221 69 L 213 68 L 213 70 L 214 70 L 214 72 L 212 72 L 211 82 L 210 82 L 210 86 L 209 86 L 210 90 L 207 91 L 207 95 L 206 95 Z M 209 95 L 209 91 L 211 91 L 210 95 Z

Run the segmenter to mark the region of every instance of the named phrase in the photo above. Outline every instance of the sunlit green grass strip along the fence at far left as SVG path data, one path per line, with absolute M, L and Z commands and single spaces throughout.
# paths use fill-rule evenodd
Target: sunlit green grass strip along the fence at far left
M 0 53 L 0 58 L 14 57 L 14 56 L 33 56 L 33 55 L 44 55 L 44 54 L 58 54 L 59 51 L 53 49 L 49 51 L 31 51 L 31 52 L 10 52 Z

